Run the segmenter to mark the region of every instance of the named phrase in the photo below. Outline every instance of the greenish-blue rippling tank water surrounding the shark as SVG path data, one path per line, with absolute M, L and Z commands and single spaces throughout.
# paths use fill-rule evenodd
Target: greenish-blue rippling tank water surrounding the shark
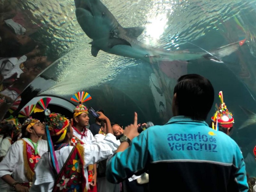
M 1 6 L 8 3 L 5 0 Z M 241 107 L 256 113 L 256 0 L 102 0 L 102 3 L 123 27 L 145 27 L 138 40 L 148 47 L 204 52 L 202 49 L 211 51 L 245 38 L 248 43 L 224 57 L 224 63 L 198 59 L 152 64 L 103 51 L 95 58 L 88 44 L 92 40 L 76 20 L 74 1 L 12 1 L 11 7 L 26 15 L 30 31 L 39 24 L 29 36 L 40 42 L 43 55 L 53 62 L 30 84 L 23 101 L 32 99 L 31 90 L 67 100 L 77 91 L 86 91 L 92 95 L 86 104 L 94 109 L 103 108 L 113 121 L 130 124 L 135 110 L 140 122 L 164 124 L 172 116 L 170 107 L 177 77 L 197 73 L 212 82 L 216 92 L 214 103 L 219 103 L 218 92 L 223 91 L 224 101 L 235 118 L 231 137 L 241 147 L 247 172 L 256 176 L 252 152 L 256 145 L 255 124 L 238 130 L 249 117 Z M 21 92 L 28 84 L 22 85 Z M 25 104 L 21 103 L 21 107 Z M 1 116 L 10 106 L 0 105 Z M 208 122 L 214 111 L 213 106 Z

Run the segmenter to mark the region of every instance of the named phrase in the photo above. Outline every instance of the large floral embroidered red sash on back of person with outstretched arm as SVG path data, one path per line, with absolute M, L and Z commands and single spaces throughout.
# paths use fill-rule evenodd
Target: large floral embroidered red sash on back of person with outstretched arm
M 84 177 L 84 148 L 77 145 L 71 151 L 67 161 L 55 180 L 52 192 L 79 191 L 87 192 Z

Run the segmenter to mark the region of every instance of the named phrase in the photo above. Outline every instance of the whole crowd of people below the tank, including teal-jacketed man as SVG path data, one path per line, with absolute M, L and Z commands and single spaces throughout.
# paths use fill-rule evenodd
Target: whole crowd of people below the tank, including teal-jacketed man
M 33 110 L 22 124 L 12 116 L 2 122 L 1 191 L 256 191 L 229 136 L 234 118 L 222 92 L 220 107 L 206 123 L 214 90 L 205 77 L 181 76 L 173 117 L 141 133 L 136 112 L 123 128 L 99 110 L 88 127 L 84 102 L 91 96 L 78 92 L 72 98 L 78 105 L 70 118 L 50 112 L 49 100 L 42 99 L 32 109 L 45 114 L 43 122 L 29 117 Z

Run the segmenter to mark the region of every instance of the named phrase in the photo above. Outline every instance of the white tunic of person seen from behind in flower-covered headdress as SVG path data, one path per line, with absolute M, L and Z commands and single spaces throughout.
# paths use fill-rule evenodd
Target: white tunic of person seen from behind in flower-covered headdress
M 107 134 L 105 139 L 100 143 L 92 143 L 83 145 L 84 147 L 84 169 L 89 164 L 95 164 L 98 161 L 104 160 L 108 158 L 108 156 L 114 154 L 117 147 L 119 146 L 118 142 L 116 141 L 116 137 L 112 134 Z M 60 167 L 63 167 L 70 152 L 72 151 L 73 146 L 66 146 L 61 148 L 60 150 L 55 151 L 56 158 Z M 51 171 L 50 167 L 50 155 L 45 153 L 39 162 L 36 164 L 35 167 L 35 175 L 33 179 L 32 187 L 30 191 L 49 191 L 51 192 L 54 187 L 55 176 Z M 86 180 L 88 180 L 88 172 L 84 172 L 84 176 Z M 88 187 L 88 182 L 87 187 Z

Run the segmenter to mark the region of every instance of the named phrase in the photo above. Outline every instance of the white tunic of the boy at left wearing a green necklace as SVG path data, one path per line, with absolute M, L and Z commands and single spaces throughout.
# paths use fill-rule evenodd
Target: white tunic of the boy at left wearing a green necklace
M 23 140 L 34 148 L 33 144 L 27 138 L 23 138 Z M 4 160 L 0 163 L 0 177 L 12 175 L 15 181 L 20 183 L 28 182 L 24 170 L 23 140 L 16 141 L 8 150 Z M 37 150 L 40 156 L 48 151 L 47 141 L 39 140 Z

